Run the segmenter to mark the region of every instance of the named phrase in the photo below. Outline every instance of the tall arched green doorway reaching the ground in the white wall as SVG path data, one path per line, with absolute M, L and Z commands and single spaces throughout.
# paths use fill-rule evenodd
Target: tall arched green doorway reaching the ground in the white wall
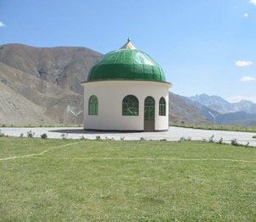
M 144 131 L 154 131 L 155 102 L 153 97 L 145 98 L 144 102 Z

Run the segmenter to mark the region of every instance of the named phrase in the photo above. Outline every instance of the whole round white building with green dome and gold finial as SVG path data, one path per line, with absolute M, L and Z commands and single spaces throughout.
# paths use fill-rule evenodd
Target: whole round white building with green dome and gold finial
M 159 64 L 130 39 L 105 54 L 82 86 L 85 130 L 168 130 L 171 84 Z

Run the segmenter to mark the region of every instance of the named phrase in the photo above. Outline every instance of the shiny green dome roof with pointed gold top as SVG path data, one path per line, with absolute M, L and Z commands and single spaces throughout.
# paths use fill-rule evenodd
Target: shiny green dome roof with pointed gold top
M 92 80 L 155 80 L 166 81 L 163 69 L 146 53 L 127 46 L 107 53 L 88 74 Z

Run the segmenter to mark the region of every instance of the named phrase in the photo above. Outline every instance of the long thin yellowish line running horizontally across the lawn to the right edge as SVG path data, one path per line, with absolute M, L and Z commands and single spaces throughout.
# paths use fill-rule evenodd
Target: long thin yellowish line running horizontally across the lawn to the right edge
M 42 159 L 66 159 L 66 160 L 165 160 L 165 161 L 229 161 L 256 164 L 256 160 L 243 160 L 231 158 L 43 158 L 43 157 L 24 157 L 24 158 L 42 158 Z

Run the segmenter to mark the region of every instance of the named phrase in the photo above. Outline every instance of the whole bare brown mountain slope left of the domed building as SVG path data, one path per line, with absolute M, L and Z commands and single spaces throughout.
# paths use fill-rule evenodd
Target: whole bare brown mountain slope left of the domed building
M 74 122 L 67 109 L 82 109 L 81 81 L 86 80 L 88 70 L 101 56 L 84 47 L 0 46 L 0 94 L 2 100 L 8 97 L 10 101 L 0 103 L 0 110 L 4 110 L 0 124 Z M 7 112 L 11 103 L 19 107 L 20 118 L 15 112 Z M 82 122 L 82 115 L 78 122 Z

